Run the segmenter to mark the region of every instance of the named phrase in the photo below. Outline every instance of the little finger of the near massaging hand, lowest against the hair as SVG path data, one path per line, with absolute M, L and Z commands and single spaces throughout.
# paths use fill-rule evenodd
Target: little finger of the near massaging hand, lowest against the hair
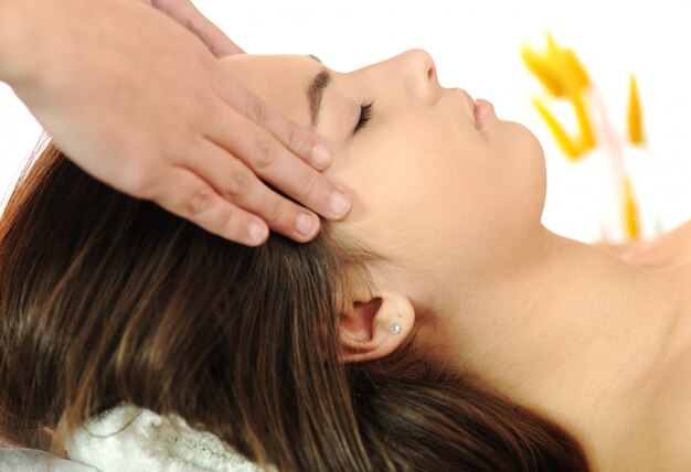
M 169 168 L 149 185 L 147 199 L 210 233 L 258 246 L 268 237 L 266 224 L 222 199 L 203 179 L 180 167 Z

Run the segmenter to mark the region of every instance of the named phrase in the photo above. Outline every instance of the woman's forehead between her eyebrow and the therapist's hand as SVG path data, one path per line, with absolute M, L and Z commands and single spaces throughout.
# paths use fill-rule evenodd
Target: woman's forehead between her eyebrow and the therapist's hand
M 272 108 L 302 126 L 309 126 L 308 87 L 323 69 L 300 55 L 237 54 L 221 60 L 223 66 Z

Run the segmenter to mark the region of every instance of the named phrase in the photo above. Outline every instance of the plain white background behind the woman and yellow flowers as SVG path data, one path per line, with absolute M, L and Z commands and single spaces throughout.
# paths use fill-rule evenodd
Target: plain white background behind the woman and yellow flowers
M 603 215 L 617 213 L 606 151 L 602 148 L 576 165 L 567 162 L 530 104 L 541 88 L 521 62 L 520 47 L 528 42 L 542 49 L 549 30 L 559 44 L 576 51 L 621 135 L 628 74 L 637 75 L 649 152 L 625 151 L 645 223 L 650 226 L 651 208 L 657 208 L 665 229 L 691 218 L 688 1 L 196 0 L 195 4 L 247 52 L 311 53 L 337 71 L 407 49 L 427 50 L 443 86 L 491 100 L 500 118 L 520 121 L 538 136 L 548 165 L 544 224 L 570 237 L 595 240 Z M 171 74 L 184 74 L 184 67 Z M 555 110 L 564 122 L 575 122 L 566 106 Z M 40 130 L 11 89 L 0 84 L 1 201 Z

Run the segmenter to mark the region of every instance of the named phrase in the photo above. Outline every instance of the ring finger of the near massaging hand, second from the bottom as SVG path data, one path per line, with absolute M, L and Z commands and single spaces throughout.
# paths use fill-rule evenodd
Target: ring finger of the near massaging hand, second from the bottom
M 319 217 L 266 186 L 247 165 L 211 141 L 204 141 L 190 168 L 225 200 L 259 216 L 268 226 L 305 243 L 319 232 Z

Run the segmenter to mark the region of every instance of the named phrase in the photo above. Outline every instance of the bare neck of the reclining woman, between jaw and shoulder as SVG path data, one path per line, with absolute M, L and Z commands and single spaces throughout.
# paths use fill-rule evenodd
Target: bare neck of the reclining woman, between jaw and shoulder
M 421 342 L 445 346 L 445 358 L 557 422 L 592 460 L 606 462 L 603 451 L 616 449 L 635 408 L 628 399 L 671 355 L 689 270 L 634 267 L 542 226 L 529 240 L 479 273 L 454 273 L 439 305 L 429 307 L 436 321 Z

